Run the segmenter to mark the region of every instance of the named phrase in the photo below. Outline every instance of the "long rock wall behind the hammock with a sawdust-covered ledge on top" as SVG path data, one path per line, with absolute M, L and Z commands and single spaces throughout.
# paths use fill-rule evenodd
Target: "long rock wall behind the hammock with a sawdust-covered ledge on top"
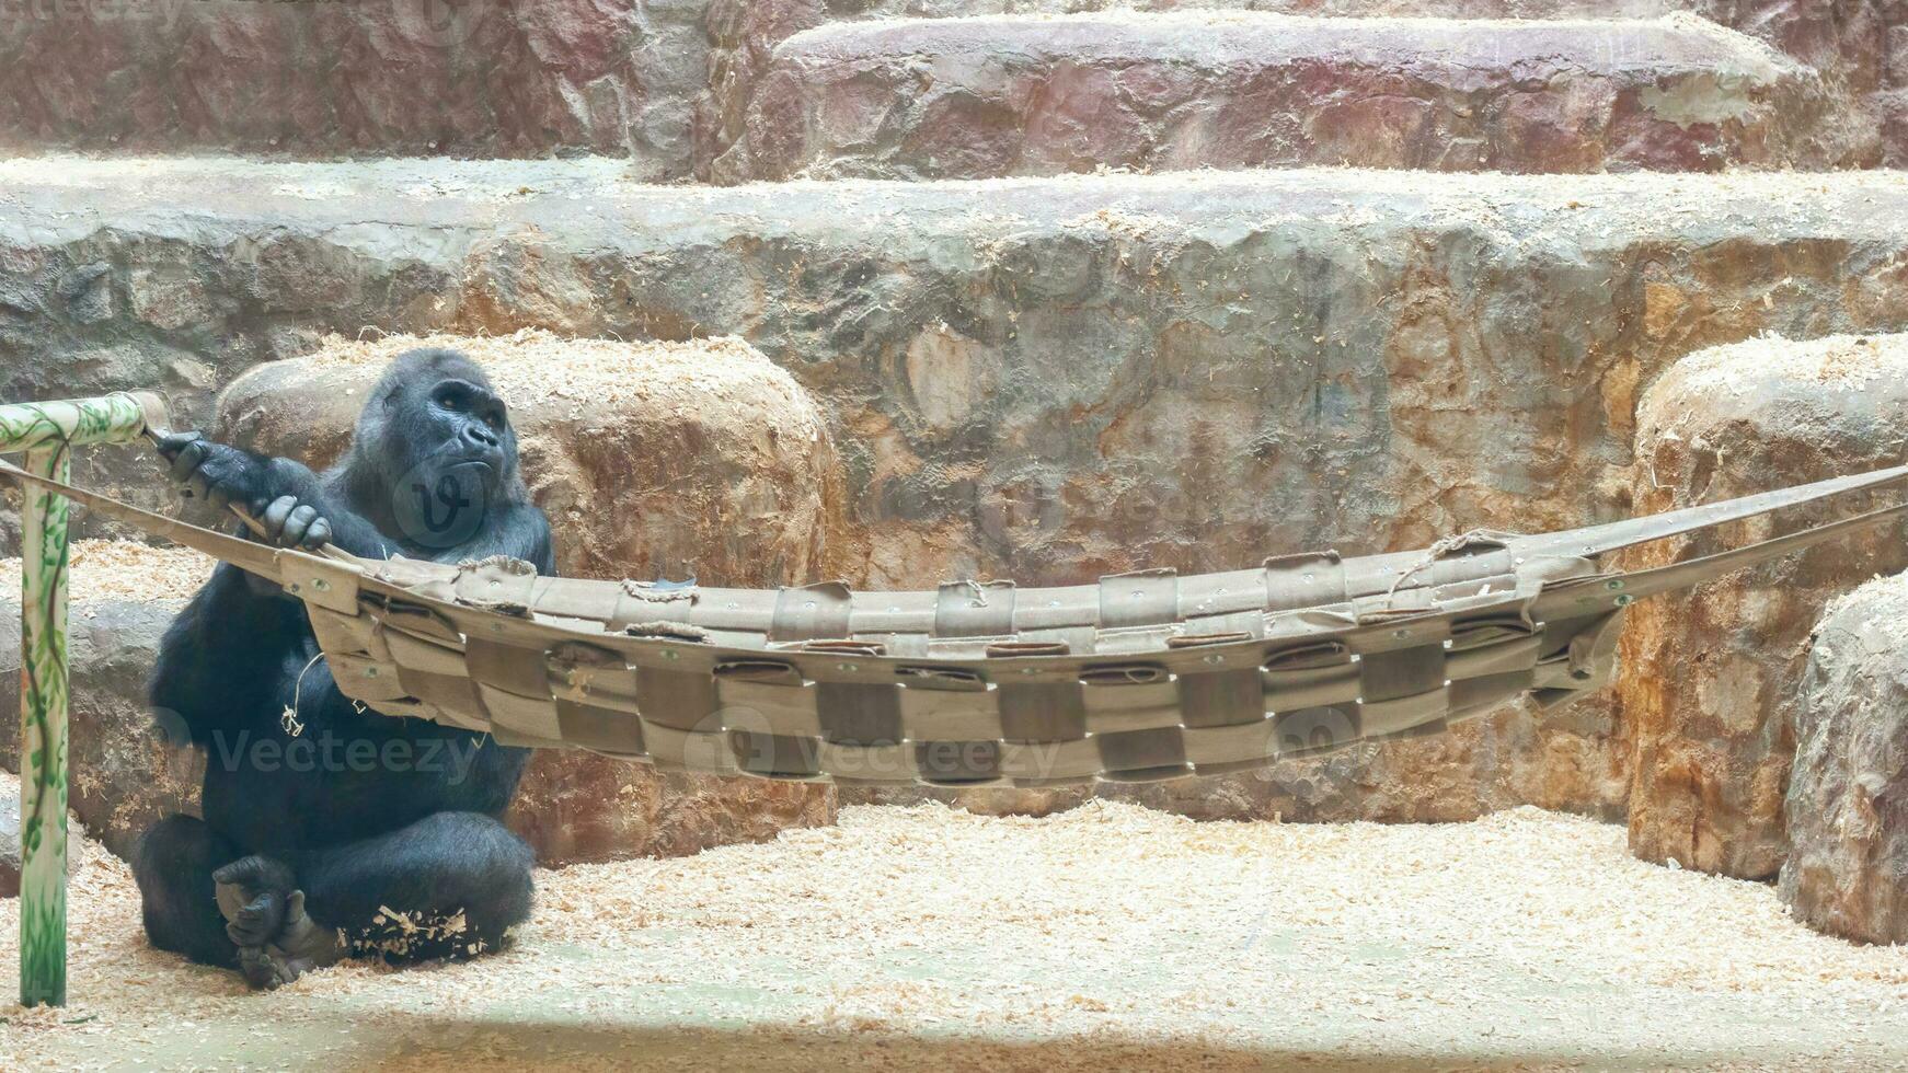
M 1908 328 L 1889 173 L 681 191 L 620 170 L 0 164 L 0 395 L 158 385 L 191 427 L 326 332 L 733 332 L 815 395 L 845 471 L 824 564 L 759 583 L 1072 583 L 1628 515 L 1637 385 L 1670 360 Z M 139 450 L 78 473 L 172 501 Z M 1587 701 L 1294 789 L 1183 789 L 1294 818 L 1608 814 L 1614 726 Z

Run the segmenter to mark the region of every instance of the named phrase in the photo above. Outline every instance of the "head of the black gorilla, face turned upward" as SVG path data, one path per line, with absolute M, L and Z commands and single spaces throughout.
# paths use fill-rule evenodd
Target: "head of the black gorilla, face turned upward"
M 393 374 L 378 421 L 391 516 L 422 547 L 462 545 L 511 494 L 517 433 L 483 370 L 462 354 L 406 354 Z

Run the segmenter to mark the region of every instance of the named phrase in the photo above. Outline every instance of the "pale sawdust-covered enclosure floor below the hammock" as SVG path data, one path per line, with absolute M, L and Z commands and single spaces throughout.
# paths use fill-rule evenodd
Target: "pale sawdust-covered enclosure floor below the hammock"
M 1898 1067 L 1908 947 L 1515 810 L 1444 827 L 849 808 L 540 875 L 521 945 L 273 995 L 151 951 L 82 848 L 73 1004 L 0 1067 Z M 17 911 L 0 903 L 11 972 Z

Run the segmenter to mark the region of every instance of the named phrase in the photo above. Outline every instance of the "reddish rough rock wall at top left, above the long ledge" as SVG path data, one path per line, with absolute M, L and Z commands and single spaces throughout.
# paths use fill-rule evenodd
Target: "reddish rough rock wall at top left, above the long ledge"
M 685 0 L 0 6 L 0 149 L 616 152 L 681 175 L 704 86 Z

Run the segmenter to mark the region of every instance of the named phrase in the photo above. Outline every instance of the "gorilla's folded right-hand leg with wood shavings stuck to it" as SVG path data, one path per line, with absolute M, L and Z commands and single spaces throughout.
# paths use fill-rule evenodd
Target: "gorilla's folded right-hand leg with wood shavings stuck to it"
M 530 915 L 530 846 L 479 812 L 437 812 L 363 842 L 305 854 L 305 911 L 353 953 L 473 957 Z

